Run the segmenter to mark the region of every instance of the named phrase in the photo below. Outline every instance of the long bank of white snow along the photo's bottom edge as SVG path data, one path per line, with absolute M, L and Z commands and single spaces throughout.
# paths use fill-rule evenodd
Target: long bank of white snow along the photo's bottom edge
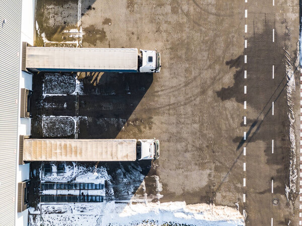
M 30 215 L 32 225 L 245 225 L 234 208 L 207 204 L 167 203 L 74 203 L 42 206 L 42 214 Z M 59 213 L 59 214 L 58 214 Z M 94 213 L 94 214 L 88 214 Z

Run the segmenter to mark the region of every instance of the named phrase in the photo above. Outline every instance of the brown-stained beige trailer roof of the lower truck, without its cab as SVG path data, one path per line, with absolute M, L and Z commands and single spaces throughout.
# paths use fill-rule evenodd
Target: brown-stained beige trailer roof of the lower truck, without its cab
M 135 160 L 135 139 L 24 139 L 23 141 L 23 161 Z

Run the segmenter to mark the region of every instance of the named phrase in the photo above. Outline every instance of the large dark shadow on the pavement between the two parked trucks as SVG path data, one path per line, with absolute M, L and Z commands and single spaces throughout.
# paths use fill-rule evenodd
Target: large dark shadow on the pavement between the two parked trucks
M 73 94 L 43 95 L 45 74 L 39 72 L 33 76 L 33 138 L 41 138 L 47 133 L 43 117 L 69 116 L 77 123 L 69 138 L 114 139 L 127 125 L 130 115 L 153 83 L 153 74 L 83 72 L 78 75 L 78 88 Z M 72 76 L 72 73 L 69 75 Z M 55 125 L 54 128 L 51 125 L 47 127 L 58 129 Z

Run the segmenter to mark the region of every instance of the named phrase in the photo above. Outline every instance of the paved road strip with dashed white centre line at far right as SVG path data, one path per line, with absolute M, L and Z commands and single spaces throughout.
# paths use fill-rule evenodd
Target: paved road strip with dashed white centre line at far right
M 285 65 L 297 65 L 294 61 L 298 24 L 293 15 L 285 12 L 297 15 L 298 3 L 292 4 L 296 7 L 284 1 L 253 1 L 245 6 L 247 46 L 242 57 L 247 57 L 247 61 L 240 68 L 247 71 L 247 78 L 237 79 L 243 92 L 244 87 L 247 89 L 245 95 L 238 97 L 247 103 L 243 111 L 247 123 L 242 126 L 247 137 L 239 145 L 240 151 L 246 147 L 243 209 L 247 212 L 247 225 L 298 225 L 298 206 L 294 202 L 298 201 L 297 192 L 288 179 L 288 160 L 293 158 Z M 298 92 L 294 94 L 297 95 Z M 291 191 L 288 196 L 286 188 Z

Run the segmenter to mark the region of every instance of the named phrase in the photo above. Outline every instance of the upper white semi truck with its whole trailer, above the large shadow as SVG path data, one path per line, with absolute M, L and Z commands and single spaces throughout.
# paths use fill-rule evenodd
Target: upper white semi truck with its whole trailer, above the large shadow
M 161 54 L 136 48 L 35 47 L 24 42 L 22 70 L 153 73 L 161 70 Z

